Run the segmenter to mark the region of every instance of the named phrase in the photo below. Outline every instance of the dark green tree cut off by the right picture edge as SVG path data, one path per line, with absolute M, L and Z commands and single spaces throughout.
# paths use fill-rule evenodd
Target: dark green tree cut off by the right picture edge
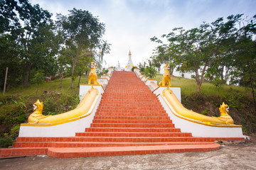
M 245 22 L 243 23 L 245 24 Z M 256 15 L 250 18 L 241 30 L 241 34 L 233 47 L 235 70 L 232 72 L 233 79 L 231 82 L 250 87 L 256 109 L 254 90 L 256 86 Z

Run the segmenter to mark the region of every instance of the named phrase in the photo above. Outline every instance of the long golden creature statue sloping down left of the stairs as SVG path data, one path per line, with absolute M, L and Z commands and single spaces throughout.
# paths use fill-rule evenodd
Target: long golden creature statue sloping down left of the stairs
M 66 113 L 61 113 L 59 115 L 51 115 L 51 116 L 43 115 L 44 116 L 43 118 L 35 116 L 40 112 L 42 115 L 42 111 L 43 111 L 43 102 L 42 102 L 42 104 L 39 105 L 40 107 L 38 107 L 38 110 L 36 110 L 37 113 L 34 112 L 28 117 L 28 123 L 33 123 L 33 124 L 60 123 L 62 124 L 62 123 L 67 123 L 70 120 L 71 121 L 78 120 L 82 115 L 84 115 L 89 111 L 97 95 L 98 95 L 97 89 L 90 89 L 87 92 L 87 94 L 85 94 L 85 97 L 82 98 L 82 101 L 79 103 L 78 107 L 75 108 L 74 110 L 68 111 Z

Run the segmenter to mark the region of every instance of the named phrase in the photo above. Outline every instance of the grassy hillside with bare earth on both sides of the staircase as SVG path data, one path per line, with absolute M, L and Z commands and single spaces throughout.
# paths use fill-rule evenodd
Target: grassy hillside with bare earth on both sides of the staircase
M 161 75 L 156 79 L 161 81 Z M 87 83 L 87 79 L 83 77 L 80 83 Z M 70 78 L 65 78 L 60 88 L 60 80 L 56 79 L 41 84 L 37 93 L 37 86 L 32 84 L 28 88 L 19 86 L 7 91 L 6 96 L 0 96 L 0 147 L 8 147 L 14 142 L 20 123 L 26 122 L 37 99 L 43 101 L 44 115 L 55 115 L 75 108 L 79 103 L 78 79 L 74 84 L 75 88 L 70 89 Z M 230 106 L 230 115 L 235 124 L 242 125 L 245 133 L 256 132 L 256 114 L 250 90 L 203 83 L 198 94 L 194 80 L 176 77 L 171 79 L 171 84 L 181 86 L 182 103 L 186 108 L 204 115 L 219 116 L 218 108 L 224 101 Z

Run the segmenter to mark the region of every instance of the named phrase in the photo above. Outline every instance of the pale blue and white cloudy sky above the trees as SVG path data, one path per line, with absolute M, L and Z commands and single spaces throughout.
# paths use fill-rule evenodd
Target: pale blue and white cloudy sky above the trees
M 56 13 L 66 16 L 73 8 L 98 16 L 105 23 L 103 39 L 111 44 L 105 67 L 116 67 L 118 62 L 125 67 L 129 50 L 135 66 L 146 61 L 157 47 L 150 38 L 160 38 L 173 28 L 188 30 L 232 14 L 256 14 L 256 0 L 31 0 L 31 4 L 53 13 L 53 20 Z

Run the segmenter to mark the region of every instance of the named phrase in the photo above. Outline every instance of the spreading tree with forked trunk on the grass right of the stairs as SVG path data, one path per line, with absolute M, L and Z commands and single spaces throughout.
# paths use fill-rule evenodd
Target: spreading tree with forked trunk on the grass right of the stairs
M 228 21 L 218 18 L 213 23 L 203 23 L 199 28 L 183 30 L 174 28 L 167 38 L 172 51 L 178 52 L 175 61 L 179 64 L 178 69 L 196 74 L 196 89 L 199 92 L 203 83 L 206 69 L 210 64 L 222 60 L 218 55 L 225 43 L 233 40 L 240 30 L 235 24 L 240 21 L 241 14 L 228 16 Z

